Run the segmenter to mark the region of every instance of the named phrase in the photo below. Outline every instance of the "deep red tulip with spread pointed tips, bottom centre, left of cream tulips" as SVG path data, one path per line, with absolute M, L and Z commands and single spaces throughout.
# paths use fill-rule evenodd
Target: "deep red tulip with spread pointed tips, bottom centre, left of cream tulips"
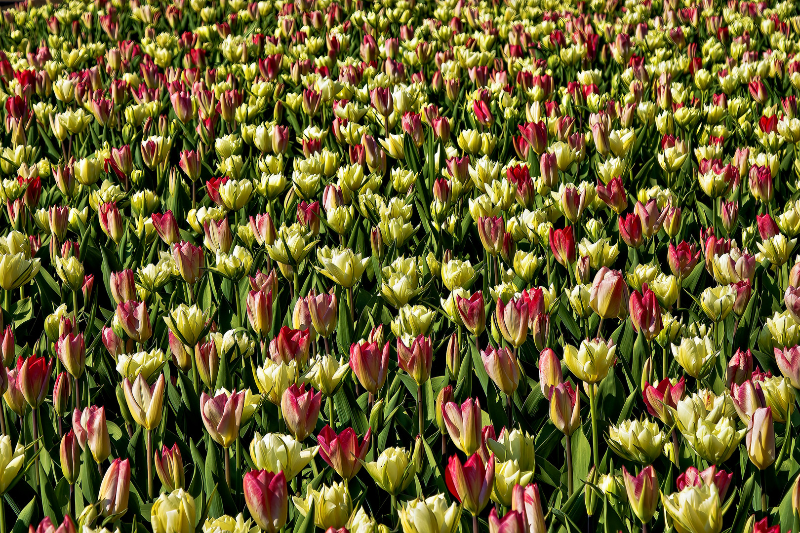
M 484 466 L 478 454 L 471 455 L 462 464 L 457 455 L 450 455 L 445 471 L 445 483 L 462 506 L 477 516 L 489 503 L 494 486 L 494 454 Z

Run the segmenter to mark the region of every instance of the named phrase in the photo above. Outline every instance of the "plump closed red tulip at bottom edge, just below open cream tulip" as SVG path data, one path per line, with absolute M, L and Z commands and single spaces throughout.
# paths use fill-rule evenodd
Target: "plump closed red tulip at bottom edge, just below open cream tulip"
M 249 471 L 242 481 L 245 501 L 255 523 L 267 533 L 277 533 L 286 524 L 288 491 L 283 472 Z

